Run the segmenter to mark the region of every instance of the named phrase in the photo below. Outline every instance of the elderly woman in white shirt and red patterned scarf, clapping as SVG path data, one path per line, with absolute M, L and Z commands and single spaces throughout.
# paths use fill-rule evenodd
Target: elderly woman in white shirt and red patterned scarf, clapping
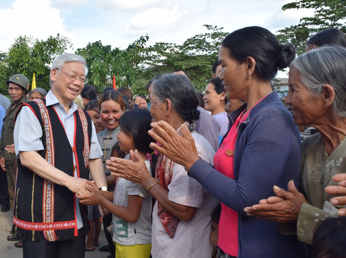
M 181 125 L 189 128 L 195 151 L 208 164 L 215 151 L 209 142 L 194 131 L 192 120 L 199 119 L 199 100 L 188 77 L 180 74 L 164 75 L 152 85 L 150 112 L 153 121 L 165 121 L 179 132 Z M 136 153 L 135 153 L 136 154 Z M 111 158 L 107 161 L 113 173 L 141 184 L 156 199 L 153 210 L 152 251 L 154 258 L 205 257 L 209 258 L 210 214 L 218 201 L 193 178 L 183 166 L 158 155 L 155 178 L 140 157 L 130 153 L 137 163 Z M 121 164 L 121 165 L 120 165 Z

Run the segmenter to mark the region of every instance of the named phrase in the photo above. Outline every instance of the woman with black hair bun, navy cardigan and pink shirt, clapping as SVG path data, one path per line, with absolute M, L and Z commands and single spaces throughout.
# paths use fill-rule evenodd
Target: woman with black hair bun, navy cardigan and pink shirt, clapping
M 273 185 L 287 189 L 290 179 L 296 186 L 299 182 L 299 131 L 270 84 L 277 68 L 287 67 L 294 57 L 292 45 L 280 45 L 261 27 L 235 30 L 222 41 L 220 79 L 225 81 L 227 98 L 242 99 L 246 104 L 228 115 L 228 131 L 214 156 L 214 166 L 200 158 L 185 125 L 179 128 L 179 135 L 165 121 L 152 123 L 157 133 L 149 131 L 149 135 L 161 146 L 151 147 L 182 165 L 189 177 L 221 202 L 217 257 L 308 256 L 306 244 L 297 236 L 280 234 L 279 223 L 244 212 L 245 207 L 272 196 Z M 117 172 L 112 174 L 127 176 L 118 159 L 109 163 Z M 138 181 L 150 186 L 144 178 L 145 173 Z

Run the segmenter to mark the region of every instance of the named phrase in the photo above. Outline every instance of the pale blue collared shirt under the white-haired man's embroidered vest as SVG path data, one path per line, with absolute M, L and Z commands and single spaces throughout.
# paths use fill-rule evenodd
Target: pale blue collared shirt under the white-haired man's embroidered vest
M 73 113 L 77 110 L 77 105 L 71 101 L 71 107 L 66 114 L 64 105 L 61 104 L 54 96 L 52 91 L 49 91 L 46 96 L 46 106 L 52 105 L 66 132 L 67 139 L 69 139 L 71 148 L 73 147 L 74 140 L 74 116 Z M 97 140 L 94 124 L 92 125 L 91 144 L 89 159 L 100 158 L 102 156 L 102 150 Z M 15 129 L 13 131 L 13 138 L 15 141 L 15 149 L 17 158 L 19 158 L 19 151 L 39 151 L 43 150 L 43 144 L 41 141 L 43 134 L 40 122 L 35 116 L 34 112 L 27 106 L 22 107 L 20 110 Z M 76 165 L 76 159 L 73 153 L 73 164 Z M 74 171 L 74 176 L 78 177 L 77 170 Z M 76 198 L 76 215 L 77 215 L 77 228 L 83 227 L 82 216 L 79 209 L 79 200 Z

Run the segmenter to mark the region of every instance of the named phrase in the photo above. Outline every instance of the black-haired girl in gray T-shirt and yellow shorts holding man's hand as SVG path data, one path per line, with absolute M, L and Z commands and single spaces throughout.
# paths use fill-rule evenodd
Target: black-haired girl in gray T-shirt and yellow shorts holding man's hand
M 151 167 L 146 154 L 153 152 L 149 144 L 155 142 L 148 135 L 151 119 L 147 109 L 127 111 L 119 119 L 120 132 L 117 135 L 120 149 L 124 152 L 137 149 L 149 172 Z M 151 195 L 139 184 L 124 178 L 118 179 L 114 193 L 99 191 L 93 183 L 88 184 L 93 187 L 89 187 L 90 194 L 78 198 L 83 204 L 100 204 L 113 214 L 116 257 L 148 258 L 151 251 Z

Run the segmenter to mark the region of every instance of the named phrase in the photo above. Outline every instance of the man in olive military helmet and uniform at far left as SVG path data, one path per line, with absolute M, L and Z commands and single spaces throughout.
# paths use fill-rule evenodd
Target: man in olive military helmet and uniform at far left
M 16 155 L 11 153 L 14 147 L 11 146 L 13 141 L 13 129 L 15 128 L 15 114 L 22 103 L 26 102 L 26 94 L 28 93 L 29 80 L 26 76 L 22 74 L 13 75 L 8 81 L 8 94 L 12 100 L 12 104 L 8 107 L 6 116 L 3 120 L 3 126 L 1 130 L 0 138 L 0 166 L 1 169 L 6 172 L 7 184 L 6 192 L 9 193 L 9 199 L 1 196 L 1 211 L 9 211 L 10 204 L 13 210 L 13 202 L 15 199 L 15 186 L 16 186 L 16 170 L 15 170 L 15 161 Z M 5 150 L 8 149 L 9 151 Z M 2 178 L 4 173 L 1 171 L 1 192 L 4 192 L 5 183 Z

